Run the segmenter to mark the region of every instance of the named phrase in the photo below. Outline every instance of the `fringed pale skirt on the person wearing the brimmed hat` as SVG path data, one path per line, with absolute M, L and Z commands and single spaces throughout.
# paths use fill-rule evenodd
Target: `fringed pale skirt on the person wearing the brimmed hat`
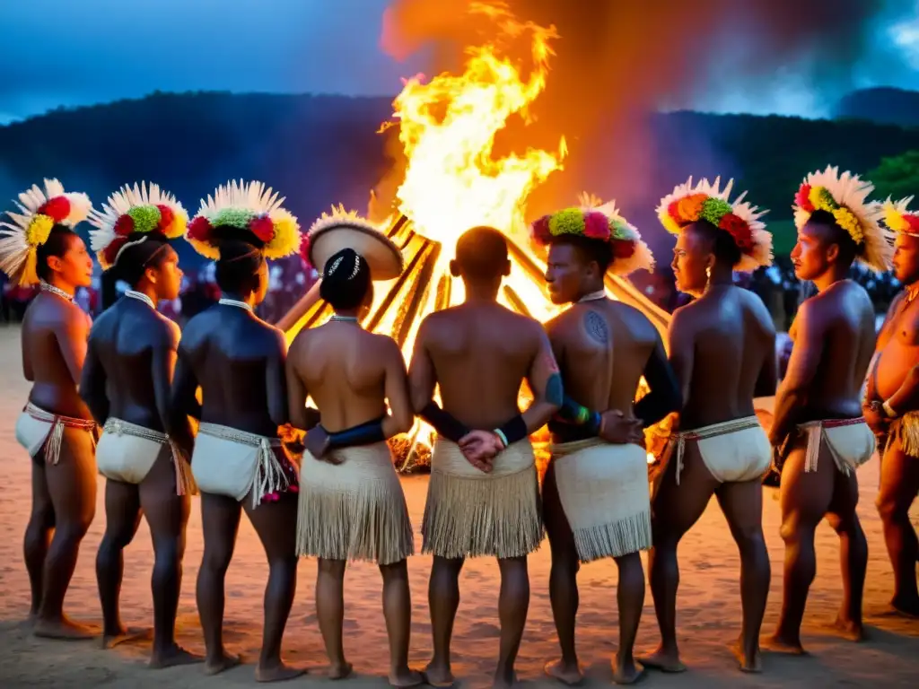
M 389 446 L 331 452 L 341 464 L 303 453 L 297 553 L 380 565 L 413 555 L 412 523 Z

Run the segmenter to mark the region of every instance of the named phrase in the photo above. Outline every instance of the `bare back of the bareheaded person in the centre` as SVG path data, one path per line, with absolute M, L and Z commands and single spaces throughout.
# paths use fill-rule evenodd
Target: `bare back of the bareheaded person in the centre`
M 520 412 L 520 388 L 543 354 L 545 333 L 539 322 L 489 301 L 431 314 L 418 339 L 443 409 L 470 428 L 490 429 Z

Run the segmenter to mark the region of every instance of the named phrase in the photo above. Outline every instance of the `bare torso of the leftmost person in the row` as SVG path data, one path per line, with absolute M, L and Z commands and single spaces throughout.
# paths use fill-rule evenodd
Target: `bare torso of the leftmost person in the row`
M 22 367 L 33 383 L 28 400 L 46 412 L 91 419 L 77 391 L 91 319 L 80 307 L 40 292 L 22 322 Z

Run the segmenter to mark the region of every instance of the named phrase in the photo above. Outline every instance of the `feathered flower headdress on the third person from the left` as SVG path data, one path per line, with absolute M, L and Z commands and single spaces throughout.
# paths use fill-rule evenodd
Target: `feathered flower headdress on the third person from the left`
M 213 197 L 201 199 L 201 208 L 188 223 L 185 238 L 202 256 L 220 258 L 221 227 L 250 232 L 266 258 L 282 258 L 297 251 L 301 233 L 297 219 L 281 208 L 278 198 L 263 182 L 218 186 Z

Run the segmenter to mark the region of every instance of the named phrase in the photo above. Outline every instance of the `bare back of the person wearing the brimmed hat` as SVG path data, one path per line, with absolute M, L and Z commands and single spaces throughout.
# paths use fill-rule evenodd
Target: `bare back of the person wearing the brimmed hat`
M 391 337 L 368 333 L 355 323 L 328 322 L 297 334 L 288 370 L 319 408 L 323 428 L 335 433 L 386 415 L 393 356 L 402 359 Z M 402 366 L 404 377 L 404 361 Z

